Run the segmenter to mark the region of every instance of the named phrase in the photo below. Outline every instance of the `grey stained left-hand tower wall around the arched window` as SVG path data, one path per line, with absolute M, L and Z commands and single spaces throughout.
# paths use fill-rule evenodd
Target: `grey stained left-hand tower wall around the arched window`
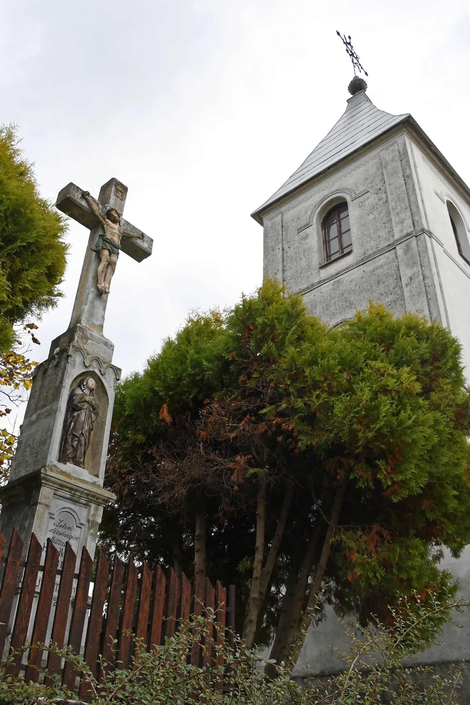
M 335 200 L 347 200 L 353 247 L 325 264 L 320 226 Z M 264 274 L 332 325 L 369 299 L 442 320 L 425 230 L 402 131 L 264 216 Z

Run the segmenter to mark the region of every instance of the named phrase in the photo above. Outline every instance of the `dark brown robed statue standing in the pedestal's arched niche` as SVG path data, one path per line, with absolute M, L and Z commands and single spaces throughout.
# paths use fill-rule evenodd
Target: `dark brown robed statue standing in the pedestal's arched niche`
M 58 462 L 71 462 L 85 467 L 85 455 L 99 415 L 97 400 L 94 398 L 95 386 L 93 377 L 84 377 L 70 392 Z

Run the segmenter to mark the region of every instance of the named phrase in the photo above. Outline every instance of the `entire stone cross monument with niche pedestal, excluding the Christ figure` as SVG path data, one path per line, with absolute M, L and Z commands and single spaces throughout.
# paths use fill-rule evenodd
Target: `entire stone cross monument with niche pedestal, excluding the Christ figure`
M 114 223 L 112 234 L 127 255 L 137 262 L 151 255 L 151 238 L 122 217 L 127 192 L 113 178 L 101 186 L 98 200 L 85 198 L 73 183 L 57 197 L 58 209 L 89 228 L 88 247 L 70 325 L 35 370 L 10 479 L 0 488 L 0 531 L 6 540 L 16 527 L 26 550 L 35 532 L 44 551 L 52 540 L 61 560 L 67 541 L 78 561 L 83 546 L 94 555 L 103 508 L 115 499 L 103 484 L 120 369 L 113 364 L 113 343 L 103 335 L 109 294 L 98 289 L 96 250 L 101 235 L 110 240 L 104 221 L 109 234 Z M 116 213 L 109 209 L 120 216 L 118 230 Z

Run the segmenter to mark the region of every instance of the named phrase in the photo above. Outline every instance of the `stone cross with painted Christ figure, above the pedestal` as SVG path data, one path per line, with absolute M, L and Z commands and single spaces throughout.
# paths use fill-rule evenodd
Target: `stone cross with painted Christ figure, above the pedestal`
M 120 250 L 137 262 L 151 255 L 153 240 L 123 219 L 127 193 L 127 186 L 112 178 L 101 186 L 98 200 L 74 183 L 58 194 L 56 207 L 90 230 L 70 328 L 80 323 L 102 333 Z

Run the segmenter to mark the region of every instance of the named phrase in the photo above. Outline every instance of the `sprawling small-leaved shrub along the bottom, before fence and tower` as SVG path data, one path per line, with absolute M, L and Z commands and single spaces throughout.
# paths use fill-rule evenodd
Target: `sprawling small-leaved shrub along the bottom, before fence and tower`
M 92 705 L 379 705 L 384 701 L 395 705 L 456 705 L 459 664 L 440 675 L 432 666 L 406 664 L 430 641 L 436 642 L 436 615 L 450 623 L 452 611 L 458 614 L 469 607 L 469 602 L 454 600 L 450 593 L 443 599 L 430 594 L 424 601 L 419 594 L 398 596 L 397 606 L 390 608 L 393 627 L 378 620 L 366 630 L 345 623 L 351 640 L 350 653 L 339 652 L 345 670 L 323 682 L 307 682 L 304 688 L 291 680 L 284 664 L 274 666 L 276 677 L 268 678 L 259 651 L 248 649 L 239 637 L 234 635 L 233 649 L 218 644 L 209 636 L 214 613 L 205 618 L 192 617 L 174 637 L 151 651 L 135 643 L 130 668 L 119 668 L 116 653 L 112 663 L 100 657 L 99 680 L 70 649 L 39 646 L 60 654 L 82 672 L 87 701 Z M 206 659 L 208 665 L 190 663 L 194 646 L 211 656 Z M 78 698 L 60 685 L 58 676 L 46 686 L 6 675 L 8 663 L 0 671 L 0 703 L 57 705 L 61 699 Z

